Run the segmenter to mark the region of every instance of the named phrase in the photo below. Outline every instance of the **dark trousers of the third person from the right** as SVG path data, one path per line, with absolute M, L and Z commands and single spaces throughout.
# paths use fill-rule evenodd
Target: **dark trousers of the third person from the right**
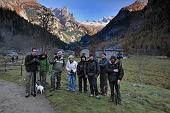
M 97 78 L 94 76 L 88 76 L 89 84 L 90 84 L 90 93 L 92 95 L 98 95 L 98 88 L 97 88 Z

